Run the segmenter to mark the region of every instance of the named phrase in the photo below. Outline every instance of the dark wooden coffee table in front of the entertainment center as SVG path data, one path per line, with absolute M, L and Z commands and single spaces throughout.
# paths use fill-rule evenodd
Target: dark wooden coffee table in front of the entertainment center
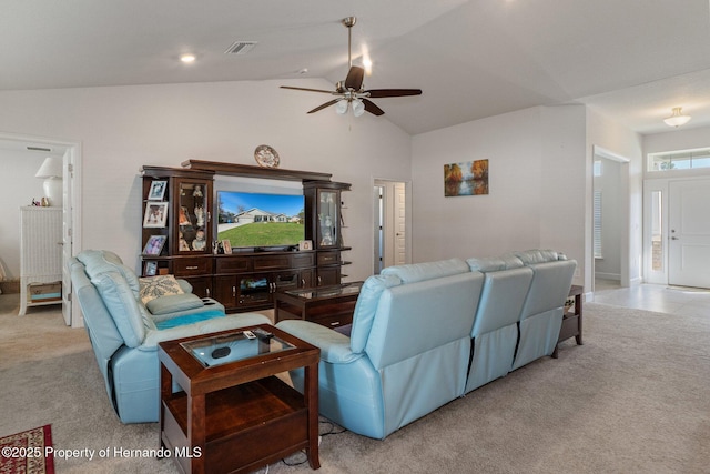
M 351 324 L 362 286 L 363 282 L 353 282 L 277 292 L 274 320 L 305 320 L 331 329 Z

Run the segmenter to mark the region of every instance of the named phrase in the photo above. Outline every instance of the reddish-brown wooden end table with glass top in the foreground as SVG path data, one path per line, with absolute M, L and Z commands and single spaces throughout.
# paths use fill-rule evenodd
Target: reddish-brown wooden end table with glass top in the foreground
M 162 447 L 184 473 L 252 472 L 300 450 L 317 470 L 320 356 L 268 324 L 161 342 Z M 303 395 L 275 376 L 298 367 Z

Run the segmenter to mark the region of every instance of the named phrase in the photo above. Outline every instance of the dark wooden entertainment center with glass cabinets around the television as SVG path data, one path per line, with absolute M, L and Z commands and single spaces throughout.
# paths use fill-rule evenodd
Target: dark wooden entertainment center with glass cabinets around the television
M 273 307 L 282 290 L 342 282 L 342 196 L 351 184 L 331 174 L 213 161 L 189 160 L 182 168 L 144 165 L 142 191 L 142 274 L 187 280 L 199 296 L 211 296 L 229 312 Z M 216 239 L 214 177 L 301 181 L 305 240 L 311 250 L 233 249 Z

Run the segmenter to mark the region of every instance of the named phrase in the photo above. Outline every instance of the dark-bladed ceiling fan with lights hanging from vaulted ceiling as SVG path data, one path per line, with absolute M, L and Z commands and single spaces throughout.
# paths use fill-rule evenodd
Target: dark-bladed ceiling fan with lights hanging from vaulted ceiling
M 338 81 L 335 84 L 335 91 L 326 91 L 323 89 L 307 89 L 307 88 L 293 88 L 290 85 L 282 85 L 282 89 L 294 89 L 297 91 L 308 92 L 322 92 L 331 95 L 336 95 L 336 99 L 325 102 L 310 110 L 308 113 L 317 112 L 327 107 L 335 105 L 337 113 L 346 113 L 348 108 L 353 109 L 353 114 L 359 117 L 365 112 L 369 112 L 374 115 L 382 115 L 385 112 L 375 105 L 369 99 L 382 99 L 387 97 L 404 97 L 404 95 L 420 95 L 422 89 L 369 89 L 365 90 L 363 85 L 363 79 L 365 78 L 365 69 L 353 65 L 352 60 L 352 42 L 351 33 L 353 26 L 357 19 L 355 17 L 344 18 L 341 22 L 347 28 L 347 63 L 349 70 L 344 81 Z

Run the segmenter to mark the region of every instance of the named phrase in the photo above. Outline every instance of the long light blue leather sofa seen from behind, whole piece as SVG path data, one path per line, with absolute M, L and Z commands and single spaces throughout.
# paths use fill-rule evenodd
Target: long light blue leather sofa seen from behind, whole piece
M 321 349 L 320 411 L 385 438 L 555 350 L 576 262 L 549 250 L 390 266 L 361 290 L 349 337 L 282 321 Z M 303 389 L 303 372 L 291 374 Z

